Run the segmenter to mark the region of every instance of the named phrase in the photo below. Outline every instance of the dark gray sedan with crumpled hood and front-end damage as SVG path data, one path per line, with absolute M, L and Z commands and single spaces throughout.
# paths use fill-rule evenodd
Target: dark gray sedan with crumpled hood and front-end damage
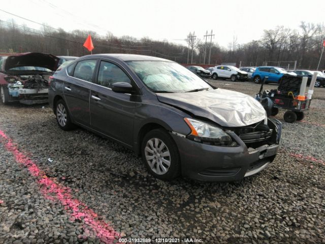
M 281 123 L 255 99 L 162 58 L 83 56 L 55 72 L 49 97 L 61 129 L 113 138 L 160 179 L 239 180 L 267 167 L 279 147 Z

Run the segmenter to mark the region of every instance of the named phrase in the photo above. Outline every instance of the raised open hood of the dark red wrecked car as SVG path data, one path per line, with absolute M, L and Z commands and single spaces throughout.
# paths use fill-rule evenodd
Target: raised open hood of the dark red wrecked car
M 5 60 L 4 71 L 10 72 L 10 69 L 22 66 L 35 66 L 55 71 L 59 58 L 52 54 L 39 52 L 18 53 L 8 56 Z

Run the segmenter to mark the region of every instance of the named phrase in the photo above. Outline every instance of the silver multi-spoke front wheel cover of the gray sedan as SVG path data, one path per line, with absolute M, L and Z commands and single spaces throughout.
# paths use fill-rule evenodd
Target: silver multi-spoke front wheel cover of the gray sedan
M 145 158 L 151 170 L 159 175 L 166 174 L 171 166 L 171 154 L 167 145 L 158 138 L 151 138 L 145 146 Z

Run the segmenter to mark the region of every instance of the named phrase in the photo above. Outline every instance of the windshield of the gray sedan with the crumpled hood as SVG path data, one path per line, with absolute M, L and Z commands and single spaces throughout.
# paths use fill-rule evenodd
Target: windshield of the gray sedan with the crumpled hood
M 129 67 L 153 92 L 184 93 L 212 89 L 203 79 L 185 67 L 166 61 L 128 61 Z

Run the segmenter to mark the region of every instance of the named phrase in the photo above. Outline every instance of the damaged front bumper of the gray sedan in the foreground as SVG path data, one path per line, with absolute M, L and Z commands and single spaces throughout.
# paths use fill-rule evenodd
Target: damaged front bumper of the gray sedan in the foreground
M 247 148 L 234 132 L 228 133 L 237 141 L 236 147 L 207 145 L 171 134 L 179 149 L 182 175 L 203 181 L 235 181 L 262 171 L 272 163 L 279 148 L 282 125 L 273 120 L 274 144 L 257 148 Z

